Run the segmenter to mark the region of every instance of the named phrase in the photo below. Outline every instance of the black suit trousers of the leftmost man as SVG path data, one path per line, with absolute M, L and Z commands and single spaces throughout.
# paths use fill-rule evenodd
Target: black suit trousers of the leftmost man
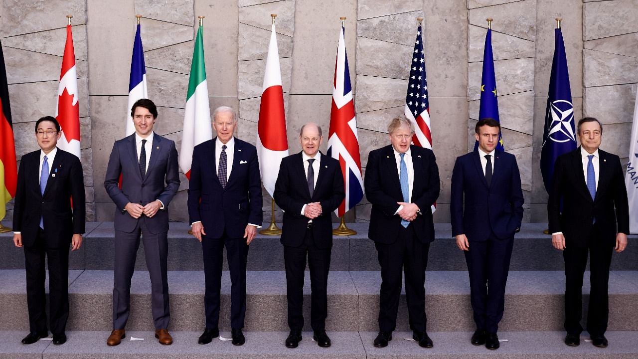
M 24 246 L 27 277 L 27 307 L 31 333 L 47 332 L 45 256 L 48 260 L 49 314 L 51 332 L 62 334 L 69 317 L 69 247 L 50 248 L 47 231 L 38 229 L 33 246 Z

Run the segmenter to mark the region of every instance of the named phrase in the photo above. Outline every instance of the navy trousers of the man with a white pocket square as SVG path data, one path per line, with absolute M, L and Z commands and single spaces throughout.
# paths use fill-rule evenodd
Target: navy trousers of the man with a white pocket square
M 202 253 L 204 254 L 204 279 L 206 291 L 204 307 L 206 328 L 219 328 L 219 302 L 221 291 L 221 270 L 223 250 L 226 247 L 228 270 L 230 271 L 230 328 L 244 328 L 246 317 L 246 259 L 248 245 L 246 238 L 228 238 L 226 233 L 221 238 L 202 237 Z

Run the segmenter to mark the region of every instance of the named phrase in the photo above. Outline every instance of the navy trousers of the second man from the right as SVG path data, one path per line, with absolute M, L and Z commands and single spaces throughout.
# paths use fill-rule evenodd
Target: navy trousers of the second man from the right
M 464 252 L 470 275 L 470 302 L 477 329 L 498 331 L 505 310 L 505 285 L 510 270 L 514 238 L 470 241 Z

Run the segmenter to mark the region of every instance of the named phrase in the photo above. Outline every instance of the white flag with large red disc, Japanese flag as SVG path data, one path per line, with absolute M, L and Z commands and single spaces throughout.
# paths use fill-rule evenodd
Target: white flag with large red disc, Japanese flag
M 286 114 L 283 107 L 279 49 L 274 24 L 272 24 L 271 42 L 268 45 L 266 71 L 263 75 L 262 102 L 259 105 L 256 144 L 263 187 L 272 197 L 281 159 L 288 156 Z

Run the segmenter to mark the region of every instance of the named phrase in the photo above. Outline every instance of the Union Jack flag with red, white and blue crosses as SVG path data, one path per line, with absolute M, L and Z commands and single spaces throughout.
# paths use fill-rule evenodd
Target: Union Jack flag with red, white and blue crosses
M 341 164 L 346 197 L 334 213 L 341 217 L 363 198 L 363 178 L 361 176 L 361 156 L 357 118 L 350 86 L 350 70 L 344 40 L 345 29 L 341 27 L 337 61 L 334 65 L 334 88 L 332 90 L 332 110 L 327 155 Z

